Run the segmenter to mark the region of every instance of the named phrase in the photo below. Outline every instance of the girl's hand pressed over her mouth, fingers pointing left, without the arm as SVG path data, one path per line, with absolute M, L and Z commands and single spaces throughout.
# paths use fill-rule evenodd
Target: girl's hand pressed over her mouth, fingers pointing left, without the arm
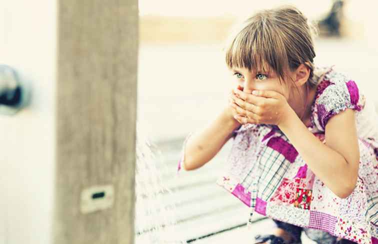
M 272 90 L 253 90 L 252 94 L 234 89 L 232 107 L 239 123 L 264 123 L 279 125 L 287 118 L 291 109 L 286 98 Z

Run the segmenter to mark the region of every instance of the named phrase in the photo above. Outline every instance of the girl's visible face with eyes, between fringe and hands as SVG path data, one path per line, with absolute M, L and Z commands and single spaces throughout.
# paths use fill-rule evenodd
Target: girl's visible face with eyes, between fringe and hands
M 232 74 L 237 83 L 243 87 L 246 93 L 252 90 L 274 90 L 282 94 L 286 100 L 289 98 L 287 82 L 281 82 L 274 73 L 266 73 L 258 70 L 249 71 L 247 68 L 232 68 Z

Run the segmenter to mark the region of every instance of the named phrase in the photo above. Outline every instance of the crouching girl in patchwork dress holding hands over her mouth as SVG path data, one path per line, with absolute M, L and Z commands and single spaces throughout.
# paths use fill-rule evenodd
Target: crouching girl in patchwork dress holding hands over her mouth
M 248 18 L 226 46 L 237 88 L 189 135 L 178 170 L 208 162 L 230 138 L 217 183 L 274 220 L 256 243 L 378 243 L 378 119 L 357 84 L 315 68 L 312 28 L 294 7 Z M 250 219 L 248 221 L 250 226 Z

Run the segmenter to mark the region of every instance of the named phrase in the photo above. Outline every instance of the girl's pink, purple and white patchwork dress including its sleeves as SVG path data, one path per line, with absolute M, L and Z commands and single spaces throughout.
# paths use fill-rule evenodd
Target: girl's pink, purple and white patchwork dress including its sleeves
M 355 110 L 360 160 L 353 192 L 346 198 L 336 196 L 279 128 L 268 124 L 243 124 L 234 131 L 224 173 L 216 183 L 250 207 L 248 226 L 255 211 L 357 243 L 377 244 L 378 118 L 374 105 L 353 80 L 332 67 L 317 68 L 315 74 L 319 81 L 308 129 L 319 140 L 325 143 L 325 125 L 333 115 L 346 108 Z

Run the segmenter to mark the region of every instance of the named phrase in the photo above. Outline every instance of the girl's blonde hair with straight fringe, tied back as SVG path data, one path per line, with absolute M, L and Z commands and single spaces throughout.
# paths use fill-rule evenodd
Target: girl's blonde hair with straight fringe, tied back
M 294 70 L 304 64 L 310 68 L 309 84 L 315 86 L 316 34 L 316 27 L 296 7 L 262 10 L 247 18 L 230 36 L 225 47 L 226 64 L 229 68 L 243 67 L 249 71 L 274 71 L 280 82 L 288 68 Z

